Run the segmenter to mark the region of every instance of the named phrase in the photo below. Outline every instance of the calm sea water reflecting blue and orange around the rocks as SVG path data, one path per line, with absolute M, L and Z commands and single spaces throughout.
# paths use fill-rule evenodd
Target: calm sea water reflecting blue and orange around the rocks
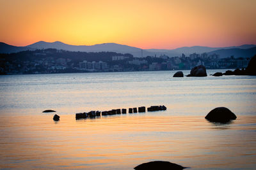
M 0 168 L 132 169 L 167 160 L 191 169 L 255 169 L 256 76 L 174 73 L 0 76 Z M 160 104 L 167 110 L 75 119 L 84 111 Z M 205 120 L 219 106 L 237 120 Z

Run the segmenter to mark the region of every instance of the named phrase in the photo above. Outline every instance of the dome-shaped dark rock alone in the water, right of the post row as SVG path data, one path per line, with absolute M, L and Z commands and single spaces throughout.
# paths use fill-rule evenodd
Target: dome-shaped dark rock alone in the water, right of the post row
M 236 115 L 228 108 L 220 107 L 211 110 L 205 118 L 210 122 L 227 123 L 230 122 L 230 120 L 235 120 Z

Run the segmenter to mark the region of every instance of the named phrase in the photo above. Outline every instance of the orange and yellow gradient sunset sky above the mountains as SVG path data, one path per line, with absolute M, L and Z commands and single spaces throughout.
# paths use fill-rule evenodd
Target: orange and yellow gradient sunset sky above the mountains
M 0 41 L 139 48 L 256 44 L 255 0 L 0 0 Z

